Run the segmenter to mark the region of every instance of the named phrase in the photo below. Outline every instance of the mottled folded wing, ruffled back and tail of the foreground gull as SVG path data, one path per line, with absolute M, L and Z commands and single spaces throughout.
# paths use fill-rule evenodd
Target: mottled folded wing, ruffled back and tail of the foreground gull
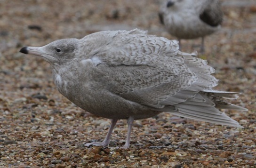
M 178 51 L 176 40 L 133 30 L 112 35 L 90 58 L 105 72 L 106 88 L 155 111 L 241 127 L 217 108 L 247 110 L 224 100 L 237 93 L 216 91 L 214 69 L 193 54 Z

